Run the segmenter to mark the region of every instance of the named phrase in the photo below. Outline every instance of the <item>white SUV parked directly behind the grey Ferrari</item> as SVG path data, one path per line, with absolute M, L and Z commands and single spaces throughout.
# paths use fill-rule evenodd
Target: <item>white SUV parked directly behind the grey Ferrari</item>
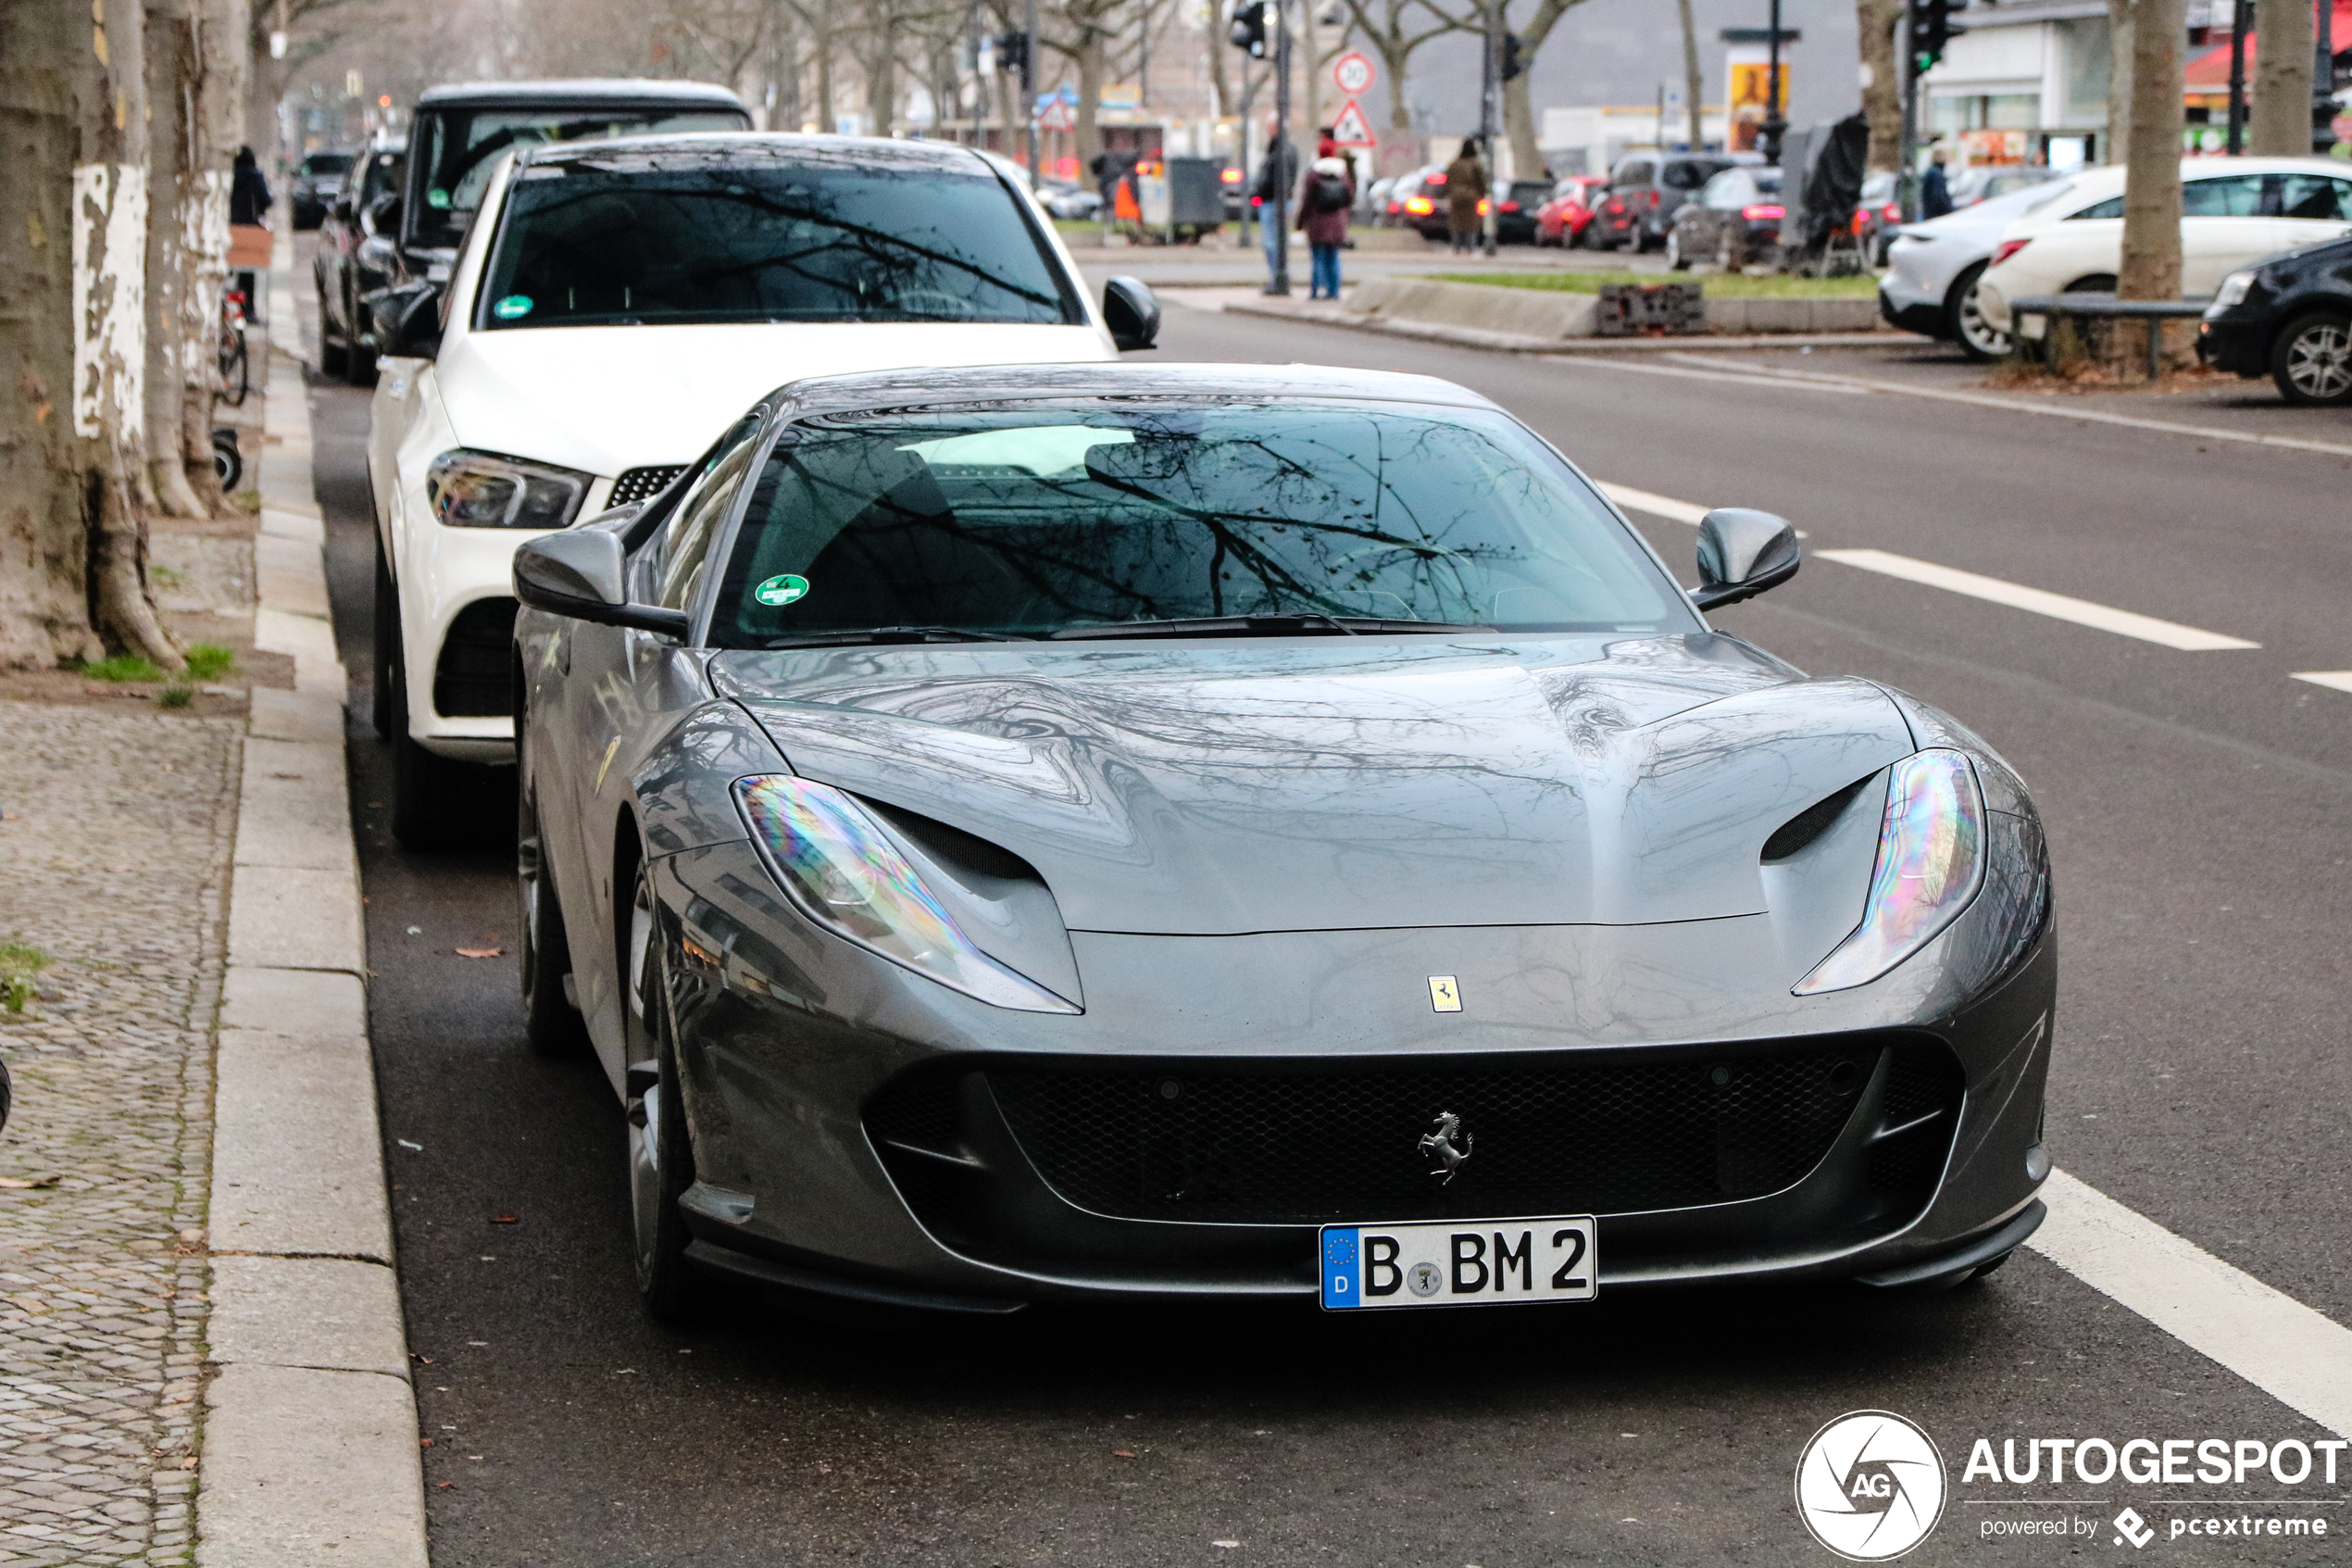
M 508 155 L 447 294 L 409 284 L 386 320 L 376 724 L 393 832 L 428 846 L 461 825 L 452 769 L 515 755 L 520 541 L 663 491 L 779 383 L 1112 360 L 1160 306 L 1115 280 L 1096 310 L 971 148 L 713 132 Z

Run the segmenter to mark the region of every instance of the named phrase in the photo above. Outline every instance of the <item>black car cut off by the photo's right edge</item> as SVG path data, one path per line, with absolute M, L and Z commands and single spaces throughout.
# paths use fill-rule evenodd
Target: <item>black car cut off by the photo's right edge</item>
M 2286 402 L 2352 402 L 2352 240 L 2230 273 L 2197 331 L 2209 362 L 2249 381 L 2267 374 Z

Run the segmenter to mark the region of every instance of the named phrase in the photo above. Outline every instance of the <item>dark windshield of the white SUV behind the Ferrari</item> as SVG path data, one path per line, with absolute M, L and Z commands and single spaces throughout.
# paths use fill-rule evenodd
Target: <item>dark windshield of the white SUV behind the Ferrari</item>
M 614 148 L 515 174 L 477 327 L 1082 322 L 978 158 Z

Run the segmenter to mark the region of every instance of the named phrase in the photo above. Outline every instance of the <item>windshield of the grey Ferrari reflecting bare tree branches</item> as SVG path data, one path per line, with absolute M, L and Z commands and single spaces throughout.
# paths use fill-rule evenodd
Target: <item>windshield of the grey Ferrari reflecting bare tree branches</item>
M 1503 414 L 1155 402 L 788 430 L 710 639 L 1218 635 L 1181 623 L 1237 616 L 1329 635 L 1698 630 L 1630 529 Z

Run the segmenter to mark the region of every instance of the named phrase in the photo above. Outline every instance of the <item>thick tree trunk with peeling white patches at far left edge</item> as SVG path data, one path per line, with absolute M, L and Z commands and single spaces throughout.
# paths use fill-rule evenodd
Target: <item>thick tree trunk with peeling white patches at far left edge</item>
M 0 5 L 0 663 L 179 665 L 146 592 L 139 0 Z

